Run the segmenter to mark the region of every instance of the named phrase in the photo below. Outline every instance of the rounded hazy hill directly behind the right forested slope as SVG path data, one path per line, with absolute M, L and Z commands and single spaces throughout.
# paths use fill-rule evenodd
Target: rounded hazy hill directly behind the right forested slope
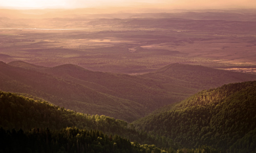
M 177 86 L 178 89 L 180 88 L 188 93 L 192 89 L 203 90 L 228 83 L 256 80 L 254 74 L 179 63 L 169 64 L 154 72 L 143 74 L 142 77 L 159 81 L 165 90 L 168 90 L 170 86 Z

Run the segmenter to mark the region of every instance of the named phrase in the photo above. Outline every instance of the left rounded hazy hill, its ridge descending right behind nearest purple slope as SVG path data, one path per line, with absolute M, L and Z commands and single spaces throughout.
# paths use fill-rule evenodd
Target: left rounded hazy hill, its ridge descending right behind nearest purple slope
M 29 68 L 31 64 L 28 63 L 28 65 L 24 65 L 24 62 L 15 61 L 8 65 Z M 36 67 L 36 65 L 34 65 L 34 67 Z M 32 69 L 34 69 L 34 67 Z M 37 71 L 83 85 L 101 93 L 135 101 L 143 105 L 144 111 L 147 113 L 150 113 L 156 107 L 179 101 L 181 98 L 168 94 L 168 92 L 155 86 L 156 83 L 151 80 L 127 74 L 94 72 L 73 64 L 48 67 L 47 69 L 37 69 Z

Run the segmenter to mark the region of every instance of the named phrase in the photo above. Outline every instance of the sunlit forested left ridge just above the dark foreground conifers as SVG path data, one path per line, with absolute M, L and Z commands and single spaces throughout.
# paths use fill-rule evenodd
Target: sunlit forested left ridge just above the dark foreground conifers
M 77 113 L 46 101 L 33 100 L 22 95 L 0 91 L 0 126 L 4 129 L 23 129 L 34 127 L 59 130 L 66 127 L 99 130 L 106 134 L 119 135 L 141 144 L 156 144 L 158 147 L 175 147 L 172 140 L 164 137 L 138 132 L 132 124 L 104 115 Z

